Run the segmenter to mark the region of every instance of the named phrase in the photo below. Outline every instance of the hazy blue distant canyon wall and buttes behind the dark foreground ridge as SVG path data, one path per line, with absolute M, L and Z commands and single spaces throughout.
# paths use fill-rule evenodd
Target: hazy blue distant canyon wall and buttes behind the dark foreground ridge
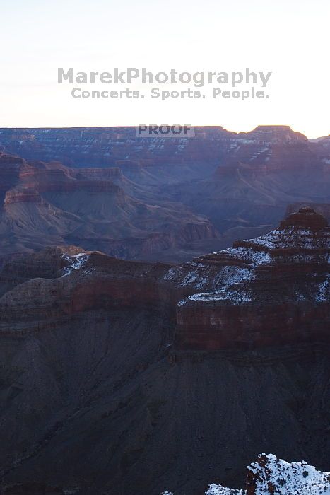
M 182 262 L 262 235 L 312 206 L 329 218 L 330 137 L 288 126 L 0 129 L 2 255 L 80 245 L 126 260 Z

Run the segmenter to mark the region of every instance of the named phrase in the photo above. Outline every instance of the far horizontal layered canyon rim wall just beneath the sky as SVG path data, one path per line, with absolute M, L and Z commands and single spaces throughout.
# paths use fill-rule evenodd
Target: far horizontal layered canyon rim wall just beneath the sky
M 0 129 L 0 144 L 9 153 L 27 159 L 59 160 L 69 166 L 150 168 L 175 163 L 219 163 L 235 157 L 255 163 L 264 159 L 279 167 L 276 156 L 281 151 L 283 165 L 296 153 L 304 162 L 314 157 L 307 138 L 288 126 L 258 126 L 252 132 L 238 134 L 223 127 L 195 127 L 191 139 L 141 139 L 136 137 L 135 127 Z M 321 146 L 314 143 L 312 148 Z

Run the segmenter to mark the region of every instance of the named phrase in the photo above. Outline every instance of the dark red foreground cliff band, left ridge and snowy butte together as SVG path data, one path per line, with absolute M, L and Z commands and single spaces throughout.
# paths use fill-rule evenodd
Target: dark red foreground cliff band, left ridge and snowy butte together
M 94 308 L 139 306 L 172 320 L 176 308 L 179 349 L 329 342 L 329 250 L 324 216 L 306 208 L 269 234 L 177 267 L 74 246 L 16 255 L 0 273 L 0 329 L 41 330 Z

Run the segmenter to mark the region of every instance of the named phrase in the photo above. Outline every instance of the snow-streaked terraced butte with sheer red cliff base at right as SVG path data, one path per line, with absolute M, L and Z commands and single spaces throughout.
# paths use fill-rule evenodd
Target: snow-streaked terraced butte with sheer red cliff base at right
M 326 219 L 306 208 L 290 214 L 267 235 L 237 241 L 232 249 L 195 260 L 182 283 L 206 291 L 177 305 L 179 346 L 223 349 L 329 342 L 329 256 Z

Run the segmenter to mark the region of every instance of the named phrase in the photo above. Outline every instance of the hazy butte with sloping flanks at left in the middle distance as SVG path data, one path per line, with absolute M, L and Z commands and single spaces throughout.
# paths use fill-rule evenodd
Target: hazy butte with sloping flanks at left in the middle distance
M 194 253 L 194 243 L 219 237 L 206 217 L 158 201 L 158 191 L 136 185 L 118 168 L 80 173 L 1 154 L 0 179 L 3 254 L 78 244 L 134 259 L 163 250 Z

